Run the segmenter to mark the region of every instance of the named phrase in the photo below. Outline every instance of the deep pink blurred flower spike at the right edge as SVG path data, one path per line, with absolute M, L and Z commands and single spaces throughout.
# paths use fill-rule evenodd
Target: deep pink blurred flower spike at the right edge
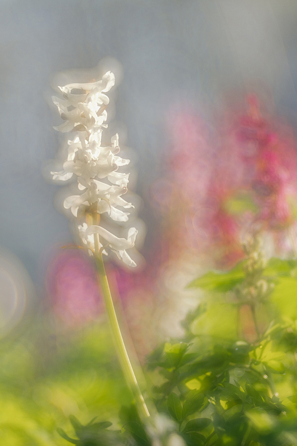
M 296 142 L 287 125 L 262 118 L 256 97 L 247 100 L 249 114 L 241 118 L 238 137 L 254 144 L 249 160 L 247 154 L 243 159 L 253 165 L 250 188 L 260 209 L 256 221 L 264 229 L 282 230 L 294 221 L 289 199 L 297 199 Z

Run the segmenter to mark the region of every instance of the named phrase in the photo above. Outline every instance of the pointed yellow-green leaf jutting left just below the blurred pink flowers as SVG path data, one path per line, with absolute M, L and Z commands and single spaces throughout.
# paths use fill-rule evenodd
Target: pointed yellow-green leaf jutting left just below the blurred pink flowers
M 241 262 L 228 273 L 210 271 L 204 274 L 204 276 L 193 280 L 187 288 L 202 288 L 206 291 L 227 292 L 241 283 L 244 278 L 243 262 Z

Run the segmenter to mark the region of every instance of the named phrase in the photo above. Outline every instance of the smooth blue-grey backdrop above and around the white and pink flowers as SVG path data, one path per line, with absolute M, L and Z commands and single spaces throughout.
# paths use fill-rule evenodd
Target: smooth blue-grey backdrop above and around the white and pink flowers
M 54 158 L 57 115 L 46 100 L 58 71 L 111 56 L 123 67 L 116 119 L 139 155 L 137 192 L 162 172 L 166 113 L 179 101 L 202 114 L 254 79 L 276 107 L 297 111 L 294 0 L 1 0 L 0 245 L 39 280 L 52 246 L 71 240 L 42 175 Z M 147 243 L 157 221 L 141 217 Z

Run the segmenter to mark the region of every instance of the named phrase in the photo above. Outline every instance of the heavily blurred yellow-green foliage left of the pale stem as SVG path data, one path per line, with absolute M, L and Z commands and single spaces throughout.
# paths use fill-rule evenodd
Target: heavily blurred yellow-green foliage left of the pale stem
M 57 427 L 72 433 L 71 414 L 116 426 L 131 403 L 104 322 L 59 333 L 40 316 L 20 339 L 2 341 L 0 361 L 1 445 L 63 446 Z

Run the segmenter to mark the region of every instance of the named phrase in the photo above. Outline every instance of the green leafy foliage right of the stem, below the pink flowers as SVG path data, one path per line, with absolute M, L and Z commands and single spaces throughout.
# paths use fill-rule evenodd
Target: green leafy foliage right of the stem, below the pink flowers
M 297 261 L 247 259 L 189 287 L 205 291 L 185 337 L 159 346 L 153 395 L 189 446 L 297 445 Z

